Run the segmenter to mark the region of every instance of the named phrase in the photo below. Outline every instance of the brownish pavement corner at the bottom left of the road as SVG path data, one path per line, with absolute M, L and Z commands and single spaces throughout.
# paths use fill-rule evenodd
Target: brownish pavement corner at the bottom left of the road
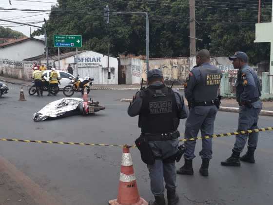
M 36 205 L 19 184 L 0 172 L 0 205 Z

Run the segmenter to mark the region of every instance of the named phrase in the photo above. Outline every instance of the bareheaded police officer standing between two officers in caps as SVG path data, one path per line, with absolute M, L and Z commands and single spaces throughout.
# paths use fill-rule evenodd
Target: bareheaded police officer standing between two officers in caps
M 199 130 L 202 137 L 213 135 L 215 116 L 220 105 L 217 94 L 222 78 L 221 70 L 210 63 L 210 52 L 205 49 L 197 53 L 196 64 L 185 83 L 184 92 L 190 108 L 185 125 L 185 139 L 197 137 Z M 177 174 L 194 174 L 195 144 L 195 140 L 184 143 L 185 164 L 177 170 Z M 212 153 L 212 139 L 203 139 L 202 150 L 199 153 L 202 158 L 199 172 L 202 176 L 209 174 L 208 167 Z

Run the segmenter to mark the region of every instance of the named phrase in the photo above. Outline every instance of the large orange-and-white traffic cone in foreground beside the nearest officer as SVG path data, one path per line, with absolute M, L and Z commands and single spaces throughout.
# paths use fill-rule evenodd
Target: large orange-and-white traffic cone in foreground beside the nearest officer
M 127 147 L 123 147 L 117 199 L 110 200 L 109 205 L 148 205 L 138 194 L 133 161 Z

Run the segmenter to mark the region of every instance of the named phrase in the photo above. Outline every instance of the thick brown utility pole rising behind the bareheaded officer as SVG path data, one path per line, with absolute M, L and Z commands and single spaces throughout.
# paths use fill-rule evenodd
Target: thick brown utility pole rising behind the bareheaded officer
M 190 1 L 190 68 L 196 64 L 195 0 Z

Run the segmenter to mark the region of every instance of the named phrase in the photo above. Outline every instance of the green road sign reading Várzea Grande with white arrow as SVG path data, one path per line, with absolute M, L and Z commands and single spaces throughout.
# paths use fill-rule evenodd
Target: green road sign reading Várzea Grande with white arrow
M 81 48 L 80 35 L 54 35 L 54 47 Z

